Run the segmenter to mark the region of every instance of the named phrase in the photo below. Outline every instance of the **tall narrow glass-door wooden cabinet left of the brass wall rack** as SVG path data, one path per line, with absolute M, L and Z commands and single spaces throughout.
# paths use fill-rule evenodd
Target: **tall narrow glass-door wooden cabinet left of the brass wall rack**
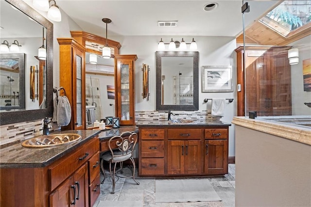
M 136 54 L 115 55 L 115 105 L 120 125 L 135 125 Z

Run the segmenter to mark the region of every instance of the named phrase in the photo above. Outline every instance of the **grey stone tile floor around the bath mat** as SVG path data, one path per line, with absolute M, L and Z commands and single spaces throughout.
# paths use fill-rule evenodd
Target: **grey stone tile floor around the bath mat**
M 109 170 L 105 169 L 106 176 Z M 130 175 L 129 168 L 123 175 Z M 104 176 L 101 175 L 101 179 Z M 228 174 L 207 177 L 210 184 L 222 201 L 219 202 L 187 202 L 187 203 L 155 203 L 155 179 L 136 177 L 137 185 L 132 178 L 119 178 L 115 193 L 111 194 L 112 183 L 106 177 L 101 185 L 101 193 L 93 207 L 234 207 L 235 202 L 235 164 L 229 164 Z

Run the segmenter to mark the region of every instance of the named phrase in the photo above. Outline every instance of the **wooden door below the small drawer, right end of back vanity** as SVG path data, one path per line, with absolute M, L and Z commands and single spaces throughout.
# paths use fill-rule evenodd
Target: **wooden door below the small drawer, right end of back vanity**
M 228 141 L 205 140 L 205 169 L 208 175 L 228 173 Z

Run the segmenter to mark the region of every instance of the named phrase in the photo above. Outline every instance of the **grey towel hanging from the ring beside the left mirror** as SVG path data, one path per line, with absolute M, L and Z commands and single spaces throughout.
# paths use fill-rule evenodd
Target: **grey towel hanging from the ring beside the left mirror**
M 66 96 L 58 97 L 57 104 L 57 125 L 67 126 L 71 120 L 71 107 Z

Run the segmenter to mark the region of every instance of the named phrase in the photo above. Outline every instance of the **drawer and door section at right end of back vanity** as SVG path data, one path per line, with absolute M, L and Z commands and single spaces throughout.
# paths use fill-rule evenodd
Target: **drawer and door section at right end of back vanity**
M 204 173 L 228 173 L 228 129 L 205 129 Z

